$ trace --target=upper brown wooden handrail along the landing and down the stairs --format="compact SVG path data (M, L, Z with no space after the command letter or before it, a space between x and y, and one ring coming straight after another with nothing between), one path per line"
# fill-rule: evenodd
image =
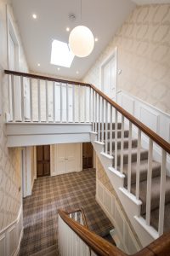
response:
M105 99L106 102L109 102L112 107L116 108L116 110L119 113L122 113L122 115L125 118L127 118L130 122L132 122L133 125L136 125L141 131L144 132L145 135L150 137L155 143L157 143L168 154L170 154L170 143L168 143L162 137L157 135L156 132L152 131L148 126L146 126L142 122L140 122L139 119L136 119L135 117L133 117L133 115L131 113L128 113L124 108L119 106L116 102L113 102L110 97L106 96L101 90L99 90L93 84L85 84L85 83L82 83L82 82L75 82L75 81L69 81L69 80L64 80L64 79L54 79L54 78L35 75L35 74L31 74L31 73L20 73L20 72L10 71L10 70L4 70L4 73L13 74L13 75L16 75L16 76L23 76L23 77L31 78L31 79L42 79L42 80L54 81L54 82L58 82L58 83L89 86L90 88L95 90L99 94L99 96L102 96Z

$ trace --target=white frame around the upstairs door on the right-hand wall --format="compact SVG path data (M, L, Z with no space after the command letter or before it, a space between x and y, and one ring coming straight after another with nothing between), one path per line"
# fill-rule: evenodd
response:
M116 101L117 101L117 47L111 52L111 54L105 59L105 61L102 62L102 64L99 67L99 86L100 86L100 90L104 91L104 83L103 83L103 67L109 62L111 61L111 59L115 57L116 58Z

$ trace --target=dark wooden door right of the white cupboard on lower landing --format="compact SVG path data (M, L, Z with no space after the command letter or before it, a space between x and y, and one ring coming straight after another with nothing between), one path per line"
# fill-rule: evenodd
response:
M82 143L82 169L93 167L93 151L92 143Z

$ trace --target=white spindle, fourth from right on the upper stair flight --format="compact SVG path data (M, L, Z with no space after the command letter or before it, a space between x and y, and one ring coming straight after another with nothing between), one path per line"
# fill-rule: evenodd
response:
M128 170L127 170L127 190L131 191L131 166L132 166L132 123L129 121L128 135Z

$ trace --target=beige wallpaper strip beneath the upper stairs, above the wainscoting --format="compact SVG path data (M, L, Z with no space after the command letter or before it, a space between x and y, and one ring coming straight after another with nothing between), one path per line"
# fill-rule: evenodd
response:
M111 194L115 197L116 203L119 205L119 207L122 210L122 213L124 215L124 218L126 218L127 224L131 228L133 235L136 237L136 239L139 241L138 236L136 235L135 230L133 229L132 224L130 223L129 219L127 218L127 214L124 211L121 202L119 201L119 198L116 195L116 191L113 189L113 186L111 185L111 182L109 180L109 177L107 176L104 167L101 165L101 162L99 161L99 158L96 157L96 178L99 180L100 183L102 183L106 189L108 189ZM140 244L140 241L139 241Z

